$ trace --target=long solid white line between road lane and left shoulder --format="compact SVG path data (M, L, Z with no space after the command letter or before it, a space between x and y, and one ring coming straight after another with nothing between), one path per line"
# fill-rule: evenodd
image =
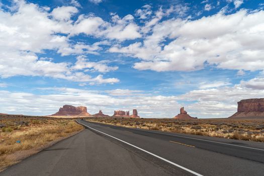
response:
M158 155L156 155L156 154L154 154L154 153L151 153L151 152L149 152L149 151L147 151L147 150L144 150L144 149L142 149L142 148L140 148L140 147L137 147L137 146L135 146L135 145L133 145L133 144L130 144L130 143L126 142L126 141L123 141L123 140L121 140L121 139L118 139L118 138L116 138L116 137L114 137L114 136L111 136L111 135L109 135L109 134L106 134L106 133L104 133L104 132L102 132L102 131L96 130L96 129L94 129L94 128L90 127L90 126L84 125L84 124L82 124L82 123L80 123L80 122L78 122L78 121L76 121L76 122L79 123L79 124L81 124L81 125L83 125L83 126L85 126L85 127L87 127L87 128L90 128L90 129L92 129L92 130L95 130L95 131L97 131L97 132L100 132L100 133L102 133L102 134L105 134L105 135L107 135L107 136L109 136L109 137L112 137L112 138L114 138L114 139L116 139L116 140L119 140L119 141L121 141L121 142L124 142L124 143L126 143L126 144L128 144L128 145L130 145L130 146L132 146L132 147L135 147L135 148L137 148L137 149L139 149L139 150L141 150L141 151L144 151L144 152L146 152L146 153L148 153L148 154L150 154L150 155L152 155L152 156L155 156L155 157L157 157L157 158L159 158L159 159L161 159L161 160L163 160L163 161L166 161L166 162L168 162L168 163L170 163L170 164L172 164L172 165L174 165L174 166L180 167L180 168L182 168L182 169L184 169L184 170L186 170L186 171L188 171L188 172L190 172L190 173L193 173L193 174L195 174L195 175L197 175L197 176L203 176L203 175L200 174L200 173L197 173L197 172L195 172L195 171L193 171L193 170L190 170L190 169L188 169L188 168L186 168L186 167L184 167L184 166L181 166L181 165L179 165L179 164L176 164L176 163L174 163L174 162L171 162L171 161L169 161L169 160L167 160L167 159L165 159L165 158L162 158L162 157L160 157L160 156L158 156Z

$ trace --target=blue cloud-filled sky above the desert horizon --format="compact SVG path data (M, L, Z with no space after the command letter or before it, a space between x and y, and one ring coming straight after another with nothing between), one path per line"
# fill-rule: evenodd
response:
M224 118L264 97L264 1L0 0L0 113Z

